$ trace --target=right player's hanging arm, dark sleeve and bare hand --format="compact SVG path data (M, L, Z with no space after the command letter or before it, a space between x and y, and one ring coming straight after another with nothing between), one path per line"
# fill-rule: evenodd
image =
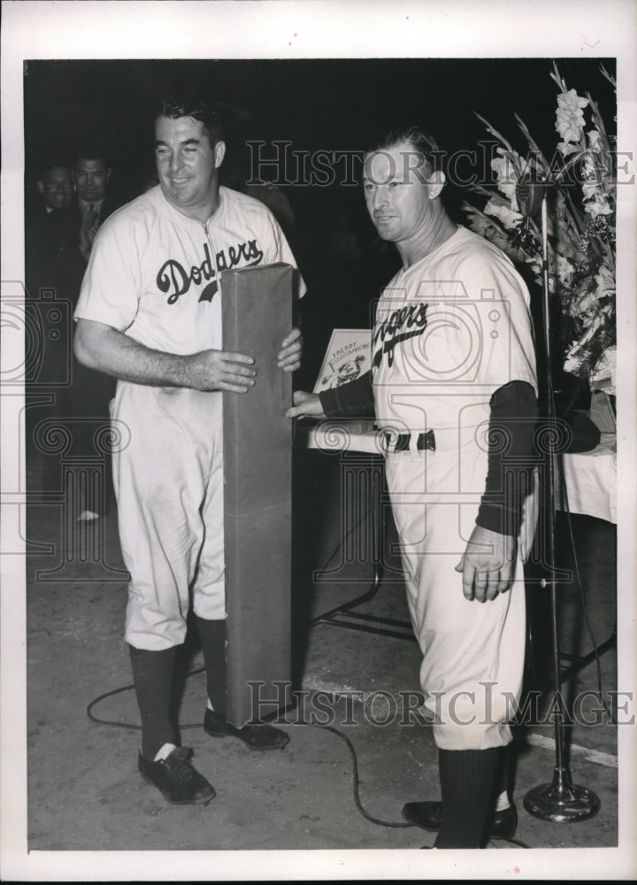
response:
M465 598L478 602L510 589L538 414L535 391L527 381L510 381L497 389L490 407L485 492L456 566Z

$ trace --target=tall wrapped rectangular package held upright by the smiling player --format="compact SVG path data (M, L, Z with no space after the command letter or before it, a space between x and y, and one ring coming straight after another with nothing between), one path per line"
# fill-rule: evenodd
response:
M242 727L289 699L292 373L276 355L293 323L293 269L226 271L221 290L223 348L257 369L248 393L223 395L226 716Z

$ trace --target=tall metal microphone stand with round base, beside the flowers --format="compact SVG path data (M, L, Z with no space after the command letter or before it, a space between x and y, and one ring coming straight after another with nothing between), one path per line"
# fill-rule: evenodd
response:
M553 673L556 691L555 745L556 764L553 780L530 789L524 798L524 806L529 814L541 820L554 820L559 823L575 822L592 818L600 808L599 797L586 787L573 784L571 772L564 762L564 736L562 714L564 700L562 698L562 680L557 647L557 596L556 596L556 519L555 519L555 462L556 456L551 451L550 436L557 439L556 410L553 396L553 380L551 376L551 342L550 342L550 311L549 311L549 246L547 235L547 196L546 182L521 179L517 189L520 212L528 218L537 211L538 197L541 195L541 237L542 237L542 327L545 345L545 390L546 419L549 427L547 435L546 469L547 481L544 488L548 501L546 503L547 519L547 557L546 567L549 577L542 578L541 586L550 588L551 632L553 638Z

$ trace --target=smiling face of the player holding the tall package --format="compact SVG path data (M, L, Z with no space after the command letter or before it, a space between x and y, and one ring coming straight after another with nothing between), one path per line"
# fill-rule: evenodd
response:
M188 218L205 221L219 204L219 166L224 142L214 147L203 123L191 117L157 117L155 159L169 203Z

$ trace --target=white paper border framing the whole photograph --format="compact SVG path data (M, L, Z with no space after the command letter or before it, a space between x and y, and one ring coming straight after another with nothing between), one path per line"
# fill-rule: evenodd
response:
M2 4L2 287L24 267L22 63L34 58L603 58L618 60L618 150L633 150L637 8L631 0L364 2L238 0ZM634 169L634 164L633 164ZM633 687L637 577L635 482L635 188L618 189L618 686ZM3 327L2 368L19 335ZM2 597L0 875L4 881L634 878L635 728L618 728L617 849L438 852L27 850L25 496L20 391L0 391ZM24 478L23 478L24 479ZM310 856L311 857L308 857Z

